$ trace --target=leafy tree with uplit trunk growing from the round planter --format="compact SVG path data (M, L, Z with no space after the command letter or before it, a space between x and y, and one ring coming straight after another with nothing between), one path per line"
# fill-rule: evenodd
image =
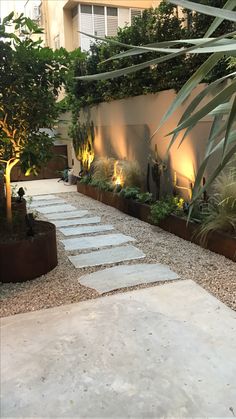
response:
M40 33L42 29L23 14L14 18L11 13L0 25L0 169L8 223L12 222L11 170L20 163L26 174L36 173L51 157L53 139L42 128L55 124L56 99L73 58L63 49L53 51L42 47L40 39L32 39Z

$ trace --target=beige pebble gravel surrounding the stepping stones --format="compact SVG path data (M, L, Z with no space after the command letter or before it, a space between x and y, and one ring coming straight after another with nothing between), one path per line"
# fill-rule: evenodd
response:
M88 209L90 216L101 216L102 224L114 225L114 233L120 232L134 237L137 240L134 245L141 249L146 257L125 262L125 264L166 264L179 274L181 279L196 281L229 307L236 310L236 264L231 260L202 249L158 227L153 227L77 192L57 194L57 197L66 199L69 204L78 209ZM46 219L43 216L39 218ZM107 233L109 234L109 232ZM75 303L100 296L94 289L81 285L79 277L117 264L75 269L68 260L67 254L75 255L78 252L66 253L59 241L65 236L57 232L57 238L59 263L53 271L32 281L0 285L1 317ZM158 282L155 285L164 282ZM153 285L143 284L132 288L123 288L103 295Z

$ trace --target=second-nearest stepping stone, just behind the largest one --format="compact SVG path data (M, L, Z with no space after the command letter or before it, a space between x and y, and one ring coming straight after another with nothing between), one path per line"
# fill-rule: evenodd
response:
M145 254L134 246L119 246L112 249L97 250L77 256L69 256L75 268L88 268L91 266L109 265L125 260L142 259Z

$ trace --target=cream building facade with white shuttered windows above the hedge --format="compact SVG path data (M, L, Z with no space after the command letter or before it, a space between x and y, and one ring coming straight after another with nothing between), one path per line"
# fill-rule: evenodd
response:
M46 45L88 51L91 38L78 31L114 36L119 27L130 25L145 8L158 4L158 0L42 0L41 24Z

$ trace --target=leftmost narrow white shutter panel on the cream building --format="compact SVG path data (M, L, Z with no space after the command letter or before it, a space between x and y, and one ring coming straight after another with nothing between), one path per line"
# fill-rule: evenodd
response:
M81 5L80 6L80 28L82 32L93 35L93 15L92 15L92 6ZM92 39L86 35L80 34L80 47L83 51L88 51L90 49L90 43Z

